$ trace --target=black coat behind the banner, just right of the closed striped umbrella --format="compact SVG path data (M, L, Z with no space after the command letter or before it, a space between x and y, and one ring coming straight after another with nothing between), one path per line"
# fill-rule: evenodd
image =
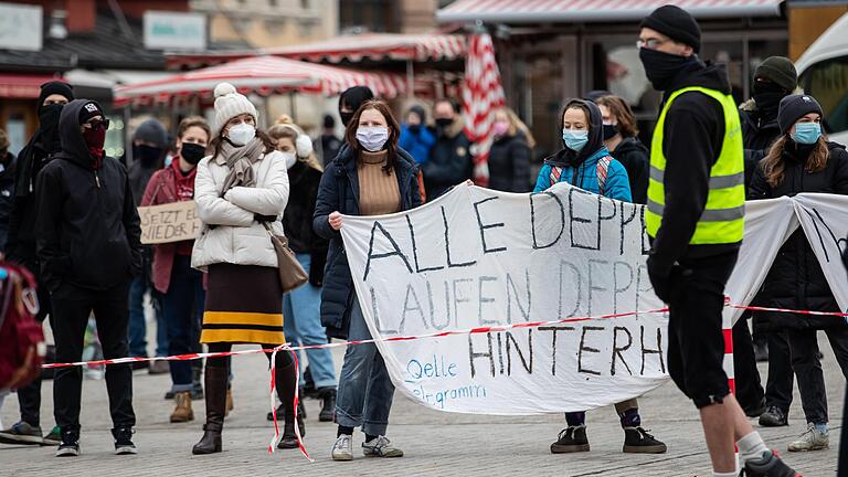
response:
M504 136L491 145L489 189L504 192L530 191L530 146L523 134Z

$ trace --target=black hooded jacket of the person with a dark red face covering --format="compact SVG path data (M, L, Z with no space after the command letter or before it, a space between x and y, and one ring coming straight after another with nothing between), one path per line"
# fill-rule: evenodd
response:
M94 169L80 130L87 103L76 99L62 109L62 151L38 177L38 258L52 292L63 284L126 286L141 266L141 229L127 171L110 157Z

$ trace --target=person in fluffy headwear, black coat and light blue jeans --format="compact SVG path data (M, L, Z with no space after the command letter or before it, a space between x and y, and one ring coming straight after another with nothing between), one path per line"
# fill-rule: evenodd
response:
M321 286L329 243L312 230L312 215L324 168L315 158L311 141L303 129L292 123L288 116L282 119L268 129L268 136L276 142L278 151L289 155L286 167L292 191L286 213L283 214L283 229L288 245L309 274L309 284L283 297L283 316L286 317L283 327L286 339L295 346L325 344L327 330L321 326ZM299 359L301 352L297 353ZM336 412L336 368L332 353L328 349L318 348L306 350L306 356L309 357L308 371L314 395L321 400L318 420L330 422ZM300 368L301 386L306 382L306 371ZM298 416L306 417L299 410L298 413Z

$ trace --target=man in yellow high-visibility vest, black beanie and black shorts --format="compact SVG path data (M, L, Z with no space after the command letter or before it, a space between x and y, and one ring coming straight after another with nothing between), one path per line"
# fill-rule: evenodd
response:
M713 476L794 471L770 451L730 393L722 367L724 286L744 231L744 158L727 72L698 57L698 22L675 6L646 17L639 59L664 92L650 147L645 226L654 292L669 307L668 370L700 412Z

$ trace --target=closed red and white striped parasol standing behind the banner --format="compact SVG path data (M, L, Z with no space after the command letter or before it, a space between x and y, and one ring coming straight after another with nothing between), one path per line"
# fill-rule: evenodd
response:
M506 104L500 72L495 60L495 46L488 33L473 34L468 42L463 86L463 115L465 134L475 144L474 181L479 186L489 182L489 148L494 134L491 124L495 109Z

